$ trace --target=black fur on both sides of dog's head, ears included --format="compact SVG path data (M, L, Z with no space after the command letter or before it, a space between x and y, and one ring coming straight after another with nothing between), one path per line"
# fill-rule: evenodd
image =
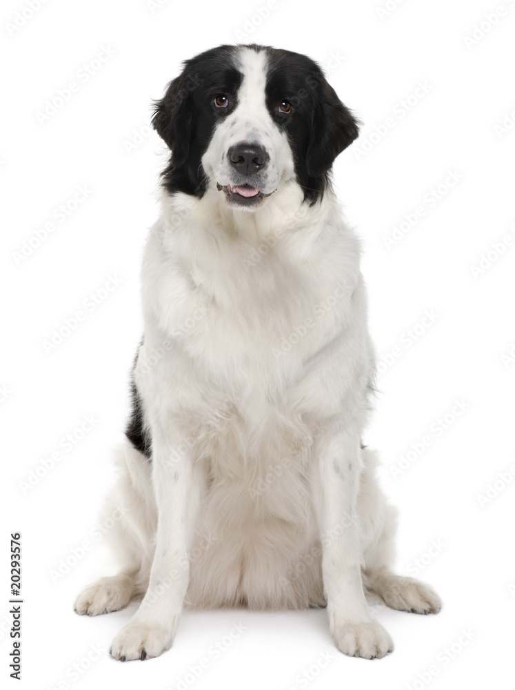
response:
M358 136L358 121L327 83L321 68L309 57L266 46L219 46L185 61L179 77L168 84L156 102L152 124L172 155L163 171L163 186L202 197L207 180L201 159L221 117L238 103L243 80L239 50L250 48L267 55L267 108L276 126L284 130L294 157L298 183L312 203L321 198L333 161ZM229 97L227 108L212 108L216 95ZM279 103L289 101L292 112L283 115Z

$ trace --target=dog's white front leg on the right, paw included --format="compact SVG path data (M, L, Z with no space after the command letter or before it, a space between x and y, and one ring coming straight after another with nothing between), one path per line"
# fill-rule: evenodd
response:
M393 644L372 618L363 591L356 515L361 448L359 433L350 426L328 433L319 444L323 584L336 647L350 656L373 659L392 651Z

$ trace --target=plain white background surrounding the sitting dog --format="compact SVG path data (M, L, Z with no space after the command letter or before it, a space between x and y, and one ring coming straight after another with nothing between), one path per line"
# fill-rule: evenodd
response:
M23 1L3 3L2 683L16 684L8 678L7 552L10 531L20 531L21 687L505 686L515 609L514 4L277 0L261 21L265 0L48 0L32 17ZM418 616L376 607L396 645L381 661L336 652L325 611L214 611L185 613L161 658L120 664L108 649L134 605L87 618L72 602L110 573L91 531L112 482L141 335L141 247L163 167L161 141L146 125L150 103L181 60L254 41L319 61L363 119L334 180L363 238L370 328L383 362L365 442L379 449L381 481L400 509L398 571L418 570L444 608ZM111 55L97 63L99 54ZM59 101L72 81L77 89ZM62 107L38 116L54 99ZM77 204L79 186L89 191ZM70 211L63 222L54 215L61 204ZM410 223L419 206L424 215ZM49 221L53 232L20 258ZM387 248L403 221L406 232ZM110 275L121 282L104 293ZM77 311L83 322L46 352L44 341ZM426 311L432 319L421 325ZM86 415L97 421L83 434ZM76 443L65 452L69 433ZM46 471L41 463L56 451ZM245 627L234 639L233 622ZM223 652L213 653L223 638Z

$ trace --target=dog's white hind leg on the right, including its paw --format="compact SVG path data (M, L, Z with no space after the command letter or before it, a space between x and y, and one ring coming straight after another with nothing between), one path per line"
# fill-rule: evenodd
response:
M433 589L414 578L396 575L394 536L396 509L385 500L375 477L375 455L363 449L358 512L363 530L363 585L387 607L411 613L438 613L442 603Z

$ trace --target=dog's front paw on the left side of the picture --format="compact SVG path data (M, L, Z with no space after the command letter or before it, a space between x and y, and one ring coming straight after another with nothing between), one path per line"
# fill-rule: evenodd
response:
M112 641L109 653L118 661L152 659L172 647L172 629L130 621Z

